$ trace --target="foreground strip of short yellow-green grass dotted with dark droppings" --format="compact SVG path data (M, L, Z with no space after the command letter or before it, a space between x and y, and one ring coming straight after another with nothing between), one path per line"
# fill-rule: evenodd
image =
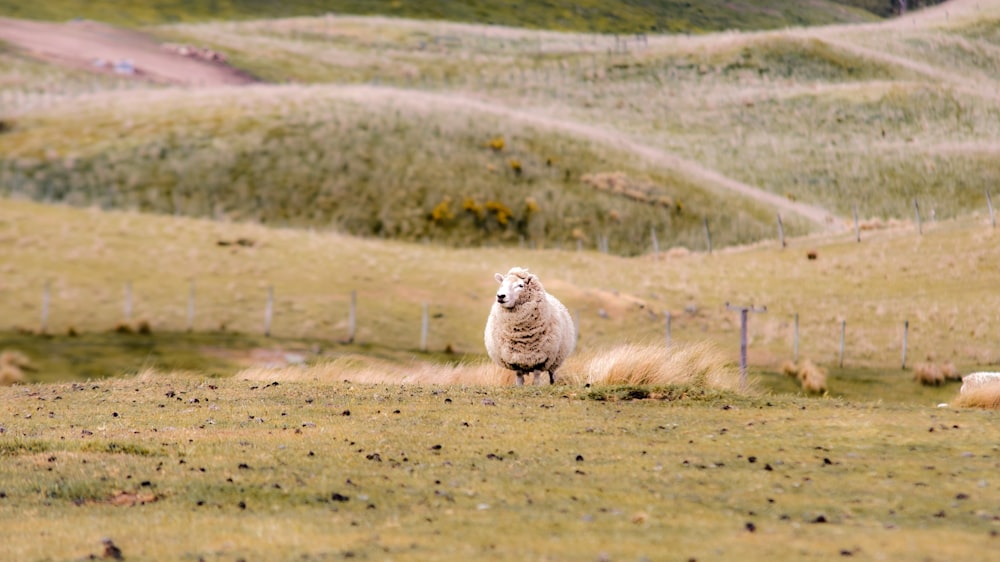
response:
M978 411L182 375L0 398L18 559L100 557L104 538L225 560L973 559L996 541L1000 428Z

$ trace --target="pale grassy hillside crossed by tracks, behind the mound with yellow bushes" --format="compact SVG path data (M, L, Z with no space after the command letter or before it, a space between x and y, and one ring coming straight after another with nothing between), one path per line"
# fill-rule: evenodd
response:
M963 5L970 19L955 17ZM950 217L981 208L997 179L1000 120L986 86L998 75L987 54L996 43L983 30L998 14L987 10L949 4L917 25L648 45L385 20L164 31L232 53L268 80L458 91L625 131L842 216L857 205L862 216L907 217L919 198Z

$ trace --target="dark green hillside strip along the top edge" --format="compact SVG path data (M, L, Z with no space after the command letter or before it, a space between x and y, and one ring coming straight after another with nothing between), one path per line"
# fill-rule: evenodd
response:
M182 21L266 19L317 16L325 13L388 15L534 29L598 33L703 33L725 29L773 29L873 21L871 12L852 7L857 1L822 0L790 6L775 0L752 0L739 6L721 0L698 3L678 0L641 2L396 2L390 0L222 0L192 2L108 2L56 0L44 3L0 1L0 15L66 20L84 17L120 25L149 25Z

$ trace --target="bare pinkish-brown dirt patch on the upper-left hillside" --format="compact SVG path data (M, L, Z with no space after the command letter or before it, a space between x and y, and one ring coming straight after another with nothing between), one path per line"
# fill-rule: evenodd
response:
M50 23L0 18L0 41L56 64L163 84L221 86L254 82L248 74L227 64L168 51L148 35L94 21Z

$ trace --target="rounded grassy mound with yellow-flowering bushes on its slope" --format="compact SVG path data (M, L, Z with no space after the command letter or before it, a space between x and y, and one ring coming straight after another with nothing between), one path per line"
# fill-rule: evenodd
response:
M665 247L703 245L705 219L719 245L774 231L766 207L720 204L677 170L444 96L266 87L113 103L18 118L0 135L2 191L458 246L607 236L634 254L652 230Z

